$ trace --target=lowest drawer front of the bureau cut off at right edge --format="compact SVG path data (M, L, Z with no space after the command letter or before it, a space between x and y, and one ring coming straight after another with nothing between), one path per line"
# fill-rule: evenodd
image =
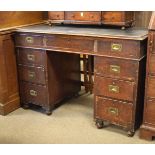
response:
M155 100L147 100L144 121L155 125Z

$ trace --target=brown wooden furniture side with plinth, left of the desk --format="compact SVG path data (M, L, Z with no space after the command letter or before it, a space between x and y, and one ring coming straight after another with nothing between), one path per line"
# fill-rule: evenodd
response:
M0 114L20 107L16 56L12 33L0 35Z

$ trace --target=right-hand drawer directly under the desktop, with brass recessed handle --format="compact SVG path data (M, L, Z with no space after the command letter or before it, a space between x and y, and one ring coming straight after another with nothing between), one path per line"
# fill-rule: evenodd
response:
M140 58L140 42L121 39L102 39L97 42L101 55L123 58Z

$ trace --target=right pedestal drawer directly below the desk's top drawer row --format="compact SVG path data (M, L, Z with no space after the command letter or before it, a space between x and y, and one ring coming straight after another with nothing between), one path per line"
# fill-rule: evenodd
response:
M95 57L95 74L126 80L136 80L138 62L106 57Z

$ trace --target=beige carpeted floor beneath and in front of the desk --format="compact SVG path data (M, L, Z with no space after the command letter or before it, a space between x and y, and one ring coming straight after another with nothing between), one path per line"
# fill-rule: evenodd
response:
M73 98L51 116L22 108L0 116L0 143L155 143L130 138L116 127L97 129L93 121L93 95Z

